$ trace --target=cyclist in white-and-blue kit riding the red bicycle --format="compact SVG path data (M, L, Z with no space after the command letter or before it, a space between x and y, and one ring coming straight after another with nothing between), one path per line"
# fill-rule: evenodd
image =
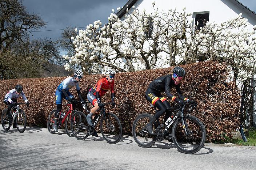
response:
M79 82L83 78L83 72L81 70L75 70L74 75L72 77L65 78L61 82L61 84L57 87L56 93L55 93L55 99L56 99L56 105L57 109L54 115L54 125L53 129L58 132L58 120L59 120L59 115L60 111L62 109L62 99L65 98L67 101L71 102L73 104L73 107L76 106L75 102L72 102L75 100L75 97L69 92L69 89L76 86L76 91L77 94L80 98L80 101L83 102L82 94L80 92L80 86Z

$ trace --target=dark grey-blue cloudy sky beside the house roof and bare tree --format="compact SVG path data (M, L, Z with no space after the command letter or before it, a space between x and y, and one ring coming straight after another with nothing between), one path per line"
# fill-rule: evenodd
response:
M150 1L150 0L147 0ZM151 0L153 1L153 0ZM150 2L151 2L150 1ZM245 6L256 11L256 0L240 0ZM24 0L29 13L37 13L47 22L41 30L64 29L67 26L83 27L100 20L107 23L112 8L122 7L128 0ZM34 38L60 37L59 31L34 32Z

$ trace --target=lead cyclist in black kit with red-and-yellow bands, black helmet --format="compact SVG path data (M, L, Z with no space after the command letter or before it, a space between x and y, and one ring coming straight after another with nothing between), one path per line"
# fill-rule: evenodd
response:
M182 67L175 67L173 69L173 73L171 75L161 76L153 80L145 93L146 99L152 103L152 105L156 106L159 111L153 116L152 120L146 125L148 132L153 135L153 123L164 114L164 122L171 116L171 111L166 110L171 107L166 98L161 95L161 92L165 92L168 98L172 99L175 102L178 102L179 105L183 106L185 101L189 103L194 103L195 101L191 101L188 98L184 97L180 90L180 81L185 77L186 72ZM170 93L170 89L175 87L177 91L177 98Z

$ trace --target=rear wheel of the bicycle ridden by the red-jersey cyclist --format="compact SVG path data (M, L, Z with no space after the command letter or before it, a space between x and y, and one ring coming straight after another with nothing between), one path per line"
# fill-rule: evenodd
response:
M71 131L78 140L85 140L88 136L88 123L86 115L83 112L77 111L71 117Z

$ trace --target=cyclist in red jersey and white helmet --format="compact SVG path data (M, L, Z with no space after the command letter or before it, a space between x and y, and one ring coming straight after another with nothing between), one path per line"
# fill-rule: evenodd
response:
M115 91L114 91L115 75L116 75L116 72L114 70L112 70L112 69L106 70L105 77L101 78L97 82L97 84L89 90L89 93L87 94L87 98L88 98L89 102L91 102L92 105L94 106L92 108L92 110L90 111L90 114L86 117L87 122L90 126L93 126L92 115L95 114L97 110L99 110L103 107L103 104L101 103L101 97L105 93L107 93L108 90L111 90L111 105L115 106L115 104L116 104L114 101L114 99L115 99ZM92 136L97 137L96 131L94 131Z

